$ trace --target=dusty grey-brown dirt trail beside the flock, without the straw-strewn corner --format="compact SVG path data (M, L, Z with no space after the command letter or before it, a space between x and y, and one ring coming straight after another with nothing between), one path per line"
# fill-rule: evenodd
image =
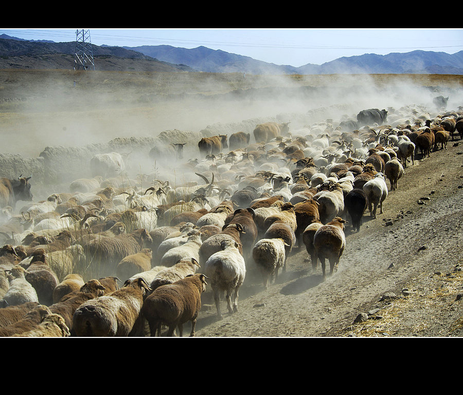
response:
M346 229L339 270L327 281L319 266L311 274L303 247L293 250L287 272L268 290L258 277L249 278L240 290L238 313L224 314L222 321L206 292L197 336L342 336L384 294L400 295L409 281L451 271L463 255L462 149L450 142L448 151L409 165L398 190L389 192L384 214L376 220L366 214L359 233ZM430 200L419 204L420 198Z

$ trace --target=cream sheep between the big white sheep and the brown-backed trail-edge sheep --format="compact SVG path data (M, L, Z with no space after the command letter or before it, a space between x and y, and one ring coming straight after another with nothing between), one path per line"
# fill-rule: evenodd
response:
M263 286L269 287L269 279L278 279L278 270L286 262L285 248L288 244L281 238L263 238L253 247L253 259L262 274Z

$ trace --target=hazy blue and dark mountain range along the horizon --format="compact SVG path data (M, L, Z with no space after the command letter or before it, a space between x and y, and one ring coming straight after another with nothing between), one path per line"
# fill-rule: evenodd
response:
M72 68L76 43L0 35L0 68ZM322 65L276 65L204 46L92 45L96 70L246 72L251 74L463 74L463 51L411 51L342 57ZM44 59L45 57L45 59Z

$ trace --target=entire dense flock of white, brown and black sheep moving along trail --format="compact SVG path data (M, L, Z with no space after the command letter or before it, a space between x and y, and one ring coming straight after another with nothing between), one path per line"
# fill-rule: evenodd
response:
M197 180L181 186L158 174L144 190L128 186L139 180L122 157L99 155L94 177L69 191L2 207L0 336L144 336L146 325L182 336L187 322L193 336L207 287L218 318L223 299L236 313L243 283L269 287L295 248L305 246L313 274L320 261L325 279L328 260L333 275L346 224L359 231L365 214L382 214L417 154L463 139L461 111L368 111L379 122L362 113L204 138L190 160L172 144Z

